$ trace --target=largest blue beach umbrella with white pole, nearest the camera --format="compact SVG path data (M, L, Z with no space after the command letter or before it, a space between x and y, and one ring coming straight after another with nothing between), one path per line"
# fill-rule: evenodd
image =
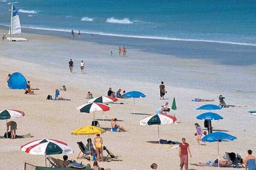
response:
M233 140L235 140L237 138L235 136L232 136L232 135L227 134L227 133L215 132L215 133L210 133L207 136L204 136L202 138L202 141L203 142L215 142L215 141L218 141L218 144L219 144L219 140L224 140L224 139L233 141ZM220 168L219 160L220 160L220 156L219 156L219 147L218 147L218 168Z

